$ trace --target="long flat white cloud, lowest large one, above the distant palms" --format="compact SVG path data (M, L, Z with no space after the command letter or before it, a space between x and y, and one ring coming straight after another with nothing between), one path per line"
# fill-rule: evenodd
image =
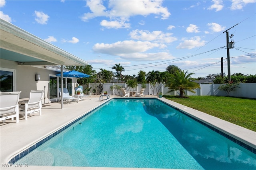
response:
M154 47L162 47L160 44L151 43L149 41L118 41L112 44L97 43L93 46L96 53L104 53L108 55L122 55L145 52Z

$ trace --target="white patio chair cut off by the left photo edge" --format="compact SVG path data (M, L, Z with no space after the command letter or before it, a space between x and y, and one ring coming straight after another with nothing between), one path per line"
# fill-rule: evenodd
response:
M16 117L19 123L19 98L20 92L0 92L0 121Z

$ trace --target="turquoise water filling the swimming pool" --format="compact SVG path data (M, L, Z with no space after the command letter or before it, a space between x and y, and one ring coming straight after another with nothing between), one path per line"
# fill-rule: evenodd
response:
M256 169L256 154L156 99L110 100L16 163Z

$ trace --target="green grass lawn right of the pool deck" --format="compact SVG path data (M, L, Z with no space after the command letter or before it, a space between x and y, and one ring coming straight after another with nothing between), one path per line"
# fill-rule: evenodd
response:
M256 99L224 96L163 96L184 106L256 131Z

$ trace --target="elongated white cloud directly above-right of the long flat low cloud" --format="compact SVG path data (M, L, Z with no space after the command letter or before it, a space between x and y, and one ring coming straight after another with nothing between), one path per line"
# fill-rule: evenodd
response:
M163 33L162 31L147 31L147 30L133 30L130 32L130 37L132 39L142 40L142 41L153 41L160 43L172 43L176 41L177 38L171 36L172 33Z

